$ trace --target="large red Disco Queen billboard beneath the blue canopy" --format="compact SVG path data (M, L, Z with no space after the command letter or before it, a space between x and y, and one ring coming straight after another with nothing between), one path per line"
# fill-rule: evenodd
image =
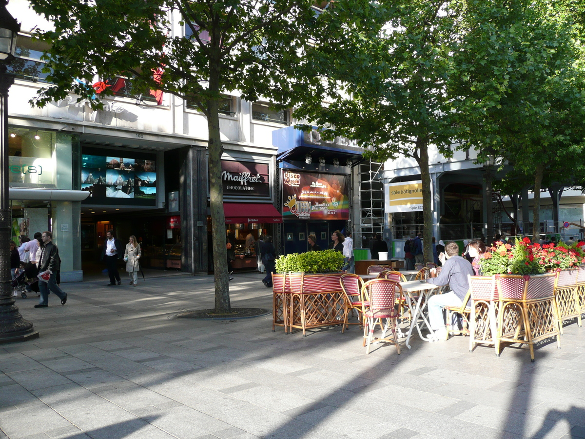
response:
M284 219L349 219L347 176L283 170Z

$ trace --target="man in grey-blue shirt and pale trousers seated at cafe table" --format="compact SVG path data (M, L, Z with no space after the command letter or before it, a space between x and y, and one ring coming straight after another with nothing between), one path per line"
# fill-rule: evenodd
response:
M446 253L446 256L445 256ZM435 331L436 337L439 340L444 340L445 332L445 316L443 315L443 307L445 306L461 306L463 299L469 290L469 280L467 275L473 276L473 266L469 260L462 258L459 255L459 246L454 241L449 241L445 245L445 253L441 253L439 259L443 264L443 269L437 277L429 277L426 280L436 286L443 286L449 284L451 291L445 294L435 294L429 299L429 323L431 329ZM435 270L435 269L432 269Z

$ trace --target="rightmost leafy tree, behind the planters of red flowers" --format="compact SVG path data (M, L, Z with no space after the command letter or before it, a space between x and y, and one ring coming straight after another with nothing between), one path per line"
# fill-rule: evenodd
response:
M580 26L562 2L468 5L462 50L454 56L459 69L451 76L456 115L480 162L497 155L514 166L504 185L525 186L522 175L532 178L532 235L538 240L543 181L581 181L585 169Z

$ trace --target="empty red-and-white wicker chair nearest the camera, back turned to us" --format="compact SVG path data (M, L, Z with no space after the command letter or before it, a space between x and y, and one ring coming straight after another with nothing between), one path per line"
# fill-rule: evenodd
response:
M390 279L372 279L362 286L364 337L367 335L366 354L370 353L371 345L378 342L394 344L396 351L400 354L396 323L398 311L394 309L397 291L402 295L400 283ZM386 319L386 325L383 328L382 336L374 338L376 321L379 319ZM390 330L390 334L386 337L388 330Z

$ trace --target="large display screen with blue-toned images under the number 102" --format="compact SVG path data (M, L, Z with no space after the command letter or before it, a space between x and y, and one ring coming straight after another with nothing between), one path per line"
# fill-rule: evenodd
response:
M81 190L85 204L156 205L154 155L123 153L103 155L104 150L84 148L81 156ZM101 152L95 154L94 152Z

